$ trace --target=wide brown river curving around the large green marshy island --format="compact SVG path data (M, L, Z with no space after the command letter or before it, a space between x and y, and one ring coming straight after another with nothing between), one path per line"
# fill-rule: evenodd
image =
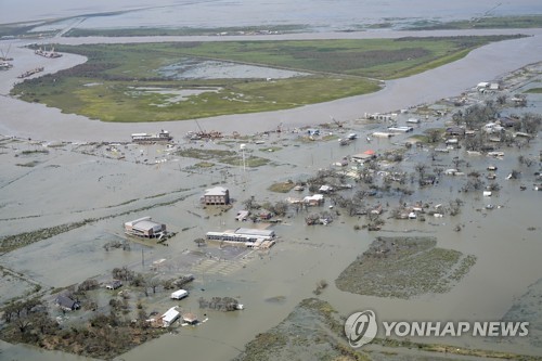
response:
M238 41L238 40L295 40L295 39L369 39L473 36L495 34L526 34L526 38L490 43L470 52L454 63L443 65L418 75L386 81L386 87L375 93L346 98L333 102L307 105L294 109L227 115L198 119L202 128L231 133L254 133L275 129L282 123L284 129L330 121L330 116L339 120L352 120L364 113L386 113L431 103L440 99L456 96L480 81L491 81L526 65L542 61L542 29L499 30L443 30L443 31L363 31L363 33L315 33L274 36L231 37L127 37L127 38L54 38L63 44L128 43L165 41ZM43 42L43 40L40 40ZM24 69L44 66L47 73L55 73L85 62L78 55L66 54L50 60L36 56L23 48L28 43L13 41L14 67L0 73L0 134L31 138L46 141L128 141L133 132L155 132L167 129L177 139L190 130L197 130L194 121L115 124L91 120L42 104L26 103L9 95L16 76ZM39 75L38 75L39 76Z

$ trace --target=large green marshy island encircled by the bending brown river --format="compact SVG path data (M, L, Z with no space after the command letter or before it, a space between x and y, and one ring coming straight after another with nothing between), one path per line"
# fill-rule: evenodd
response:
M12 94L103 121L167 121L292 108L370 93L511 37L94 44L56 50L86 64L17 85ZM158 70L208 60L307 73L288 79L173 79ZM196 64L197 66L197 64ZM179 101L182 91L198 91Z

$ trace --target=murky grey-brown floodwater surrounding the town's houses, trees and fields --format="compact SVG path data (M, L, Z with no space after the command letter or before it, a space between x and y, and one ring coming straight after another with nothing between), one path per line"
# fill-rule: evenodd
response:
M534 104L535 108L529 111L542 109L542 100L533 98L531 104ZM435 118L429 119L417 128L415 133L435 127L436 121ZM1 228L5 234L82 218L107 216L112 218L12 252L0 260L8 268L24 272L51 287L77 283L89 276L104 274L107 270L119 266L129 266L140 271L143 269L142 252L145 265L165 258L175 268L178 266L176 255L186 249L197 249L193 243L194 238L201 237L209 230L238 227L233 216L234 210L241 207L240 202L250 195L255 195L258 201L270 202L285 197L266 191L271 182L269 172L280 175L274 176L272 181L297 180L349 154L367 149L380 153L386 149L397 147L395 144L401 143L406 137L398 136L391 140L374 139L371 144L366 144L363 139L374 129L369 130L358 121L348 123L346 126L360 134L360 140L348 146L339 146L336 140L301 143L295 140L297 134L286 133L280 137L271 136L266 144L249 144L248 152L268 157L276 165L249 170L246 176L242 173L241 163L238 168L230 169L225 184L237 199L237 204L223 216L207 214L198 205L203 189L220 181L222 175L218 170L193 170L190 166L197 160L175 156L169 157L166 163L153 165L154 159L164 157L160 146L121 147L128 160L133 157L151 159L147 166L103 158L100 156L106 154L103 150L101 151L103 153L96 153L98 156L69 152L82 145L73 145L74 149L72 145L51 147L48 155L34 157L41 162L38 166L26 169L14 164L24 163L33 157L23 160L22 156L15 158L13 154L21 150L39 149L39 145L27 142L8 143L14 149L8 150L8 153L2 155L5 171L2 175L3 207L0 224L5 225ZM340 134L349 131L345 129ZM267 147L272 143L283 149L267 152ZM188 141L180 141L179 144L181 147L194 145L203 149L217 147L211 143L189 144ZM537 142L528 154L535 155L540 151L541 144ZM357 255L366 249L376 233L354 231L353 225L362 224L363 219L348 217L340 217L328 227L306 227L302 221L305 215L300 214L286 219L283 224L275 225L274 230L281 236L281 241L270 252L247 254L247 260L242 261L242 267L233 269L219 267L217 272L214 269L220 266L218 261L210 268L196 266L192 269L196 282L191 288L191 296L183 300L181 306L201 317L207 313L208 322L195 328L184 327L177 334L165 335L124 354L119 360L139 361L156 356L169 358L181 351L191 359L230 359L236 356L244 344L256 334L279 323L298 301L311 297L320 280L330 283L321 297L331 301L343 314L371 308L387 320L499 320L513 301L526 292L527 286L540 278L542 271L538 260L541 247L538 229L539 194L530 188L521 192L518 182L506 183L503 180L505 175L517 166L516 159L519 154L517 151L506 153L502 160L487 157L467 159L473 169L485 169L488 164L498 164L499 182L503 185L503 190L499 192L496 198L488 201L479 194L457 194L463 181L443 178L440 186L418 191L409 199L430 199L435 204L446 204L450 198L461 197L466 205L460 216L453 219L428 219L426 222L388 220L385 230L378 232L385 235L433 235L438 238L440 247L477 256L478 261L470 273L450 293L424 295L412 300L397 300L339 292L333 281ZM439 156L438 163L450 165L456 155L464 156L462 151L452 151ZM410 164L416 164L427 162L428 153L414 149L409 151L406 156ZM243 183L242 179L246 179L246 183ZM7 184L8 180L15 181ZM26 190L24 193L17 192L23 189ZM80 192L80 189L85 189L85 192ZM262 194L267 196L261 198ZM172 205L152 208L144 212L115 216L181 196L186 198ZM69 202L61 202L61 197ZM389 203L393 206L398 199L377 198L369 202ZM492 211L477 210L483 208L488 202L503 207ZM210 215L210 218L205 219L194 214ZM103 244L116 238L121 232L122 222L144 215L150 215L179 232L169 242L169 247L149 248L133 244L130 252L104 252ZM460 233L453 231L456 224L464 225ZM527 231L529 227L537 227L537 230ZM185 228L190 229L182 231ZM54 263L48 261L53 258L56 259ZM227 313L198 309L197 298L214 296L238 297L246 309ZM273 297L280 299L270 301L269 299ZM520 353L535 354L541 351L532 346L522 345L520 340L512 345L486 344L482 339L449 341L462 346L507 349ZM25 360L33 360L33 357L34 360L57 359L57 353L30 352L28 357L27 353L28 350L22 346L10 346L4 349L4 354L14 358L24 357ZM66 360L77 360L70 356L63 357Z

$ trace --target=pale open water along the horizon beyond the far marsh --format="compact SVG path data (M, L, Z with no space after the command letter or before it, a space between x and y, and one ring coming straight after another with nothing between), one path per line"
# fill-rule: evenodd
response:
M298 25L324 31L360 29L382 23L401 27L414 22L525 15L541 11L540 3L534 0L448 3L415 0L408 4L400 0L98 0L91 3L77 0L69 5L63 0L51 0L47 4L38 0L2 0L0 10L0 24L79 16L76 23L82 28ZM114 11L120 13L106 13ZM106 14L100 16L100 13ZM50 28L54 28L54 24L37 28L37 31Z

